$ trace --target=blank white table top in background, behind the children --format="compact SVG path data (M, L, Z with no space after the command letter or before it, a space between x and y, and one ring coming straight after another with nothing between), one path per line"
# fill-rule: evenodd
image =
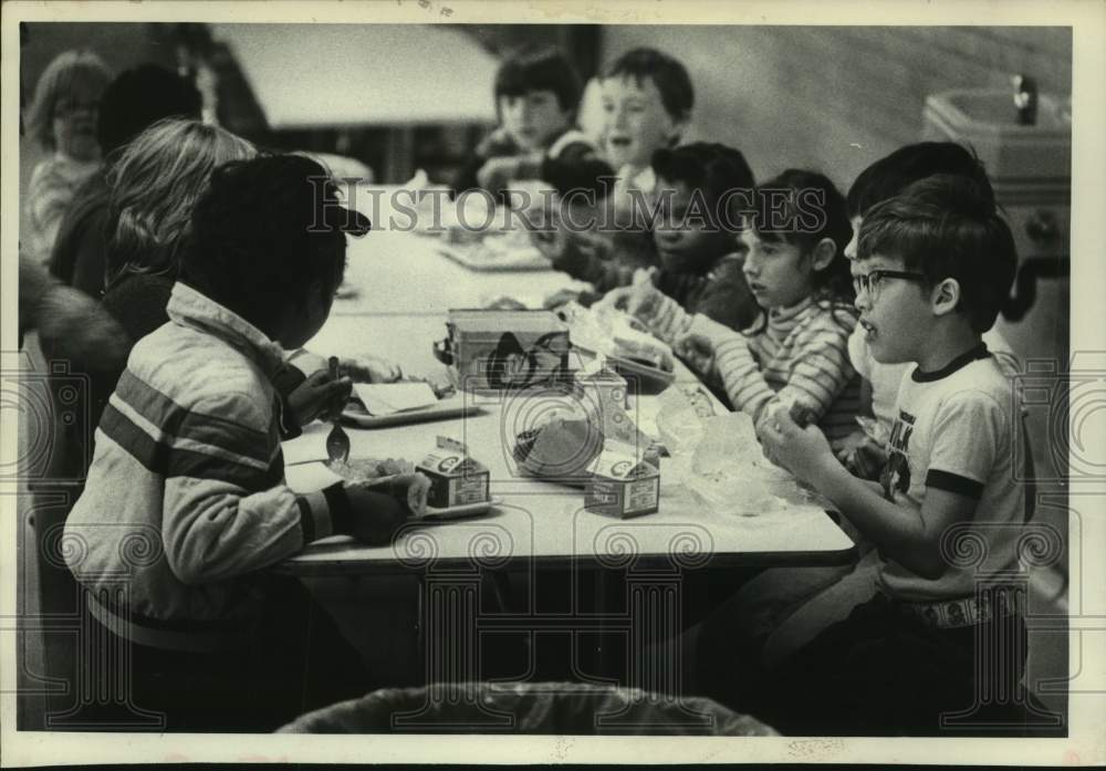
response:
M457 29L212 24L212 35L233 52L272 128L495 119L499 63Z

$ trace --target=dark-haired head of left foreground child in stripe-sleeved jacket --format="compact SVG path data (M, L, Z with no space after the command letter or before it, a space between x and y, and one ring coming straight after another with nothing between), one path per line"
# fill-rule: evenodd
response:
M265 334L290 303L320 283L333 293L345 271L345 233L368 219L338 204L317 162L298 155L236 160L211 175L192 212L181 280Z

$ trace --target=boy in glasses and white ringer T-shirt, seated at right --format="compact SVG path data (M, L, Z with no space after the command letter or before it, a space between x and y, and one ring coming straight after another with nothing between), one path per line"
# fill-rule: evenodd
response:
M878 594L773 675L758 715L782 732L933 734L973 706L975 726L1018 717L1023 597L1001 579L981 583L1019 572L1023 533L1019 417L981 336L1015 264L1010 229L964 177L922 179L865 215L852 265L859 324L876 361L912 363L890 460L878 485L857 479L786 411L762 440L875 543ZM963 539L979 560L950 559ZM1011 715L980 704L980 674Z

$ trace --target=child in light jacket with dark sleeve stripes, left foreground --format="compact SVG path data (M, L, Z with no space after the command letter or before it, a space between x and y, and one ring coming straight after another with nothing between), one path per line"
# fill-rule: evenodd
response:
M215 173L170 321L134 346L65 525L88 623L128 642L133 704L168 730L271 730L366 689L325 613L262 572L334 533L387 543L409 513L355 483L284 483L271 378L326 321L346 233L368 229L325 177L298 156Z

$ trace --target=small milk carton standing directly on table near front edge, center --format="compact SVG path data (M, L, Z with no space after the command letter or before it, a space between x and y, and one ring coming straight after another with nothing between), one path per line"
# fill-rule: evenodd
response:
M657 511L660 471L641 460L633 447L607 447L587 482L584 508L597 514L628 519Z

